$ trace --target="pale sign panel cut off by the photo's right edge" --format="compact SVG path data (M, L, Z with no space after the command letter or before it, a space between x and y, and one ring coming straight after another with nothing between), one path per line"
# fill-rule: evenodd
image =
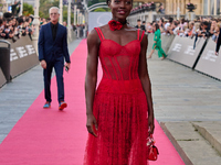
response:
M215 42L210 38L196 66L196 70L221 79L221 51L217 56L215 46Z

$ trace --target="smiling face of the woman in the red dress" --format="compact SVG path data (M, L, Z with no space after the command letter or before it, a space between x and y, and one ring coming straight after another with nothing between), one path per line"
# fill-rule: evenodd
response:
M113 19L125 20L130 13L133 3L131 0L110 0L109 8Z

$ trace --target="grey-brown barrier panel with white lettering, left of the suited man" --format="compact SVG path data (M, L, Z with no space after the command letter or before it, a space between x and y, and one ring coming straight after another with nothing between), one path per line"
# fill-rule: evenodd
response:
M36 52L29 36L11 43L11 77L15 77L39 64Z

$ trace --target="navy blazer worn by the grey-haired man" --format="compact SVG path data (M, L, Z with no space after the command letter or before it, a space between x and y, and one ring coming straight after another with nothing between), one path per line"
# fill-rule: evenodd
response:
M53 41L51 23L42 25L39 35L39 61L44 59L50 63L54 59L65 58L65 62L70 63L66 35L66 28L59 24L56 37Z

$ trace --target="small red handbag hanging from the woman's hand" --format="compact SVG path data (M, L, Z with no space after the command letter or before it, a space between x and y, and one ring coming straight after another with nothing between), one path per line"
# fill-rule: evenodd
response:
M158 148L155 146L152 134L150 134L150 136L147 139L147 160L157 161L158 155Z

